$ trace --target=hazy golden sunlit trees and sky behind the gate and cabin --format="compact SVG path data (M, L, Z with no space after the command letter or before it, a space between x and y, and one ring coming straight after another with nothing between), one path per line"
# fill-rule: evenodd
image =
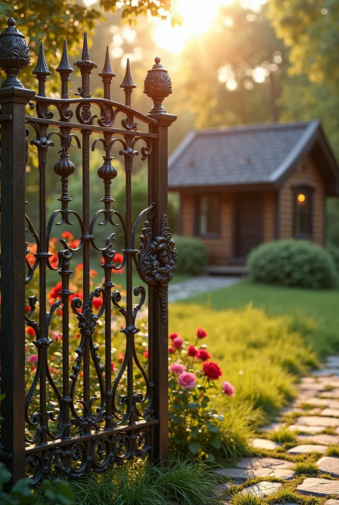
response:
M166 108L178 114L178 121L169 131L170 151L193 128L320 119L339 156L339 0L50 0L48 6L44 0L12 0L0 4L3 26L9 15L17 19L27 37L33 64L39 42L44 42L52 72L47 91L56 96L60 92L59 75L53 70L59 65L63 38L68 40L73 63L81 55L83 31L94 35L89 37L90 56L98 65L92 73L93 95L102 93L97 74L108 45L112 69L117 74L112 99L123 102L119 85L129 58L138 86L132 96L133 107L144 113L151 103L143 94L143 80L159 54L174 88L166 98ZM26 69L22 80L27 87L36 88L31 69ZM79 83L75 69L70 95ZM51 209L57 197L52 170L56 150L51 151L51 175L47 178ZM74 187L78 193L81 151L73 149L71 159L79 170ZM91 170L95 172L99 164L101 157L96 152ZM145 190L142 166L136 159L135 172L140 172L137 181ZM28 170L34 213L38 174L34 166ZM113 192L118 194L121 188L117 181ZM91 188L94 207L101 194L100 184L97 181ZM74 204L78 205L76 201ZM334 231L339 229L335 224L339 222L339 205L329 201L328 206L328 236L339 245L339 232ZM173 197L174 228L176 209L178 203Z

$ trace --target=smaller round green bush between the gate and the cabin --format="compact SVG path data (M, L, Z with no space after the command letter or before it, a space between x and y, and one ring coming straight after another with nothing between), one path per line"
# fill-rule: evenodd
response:
M194 237L175 235L173 238L178 249L176 273L185 275L201 274L208 258L206 245Z

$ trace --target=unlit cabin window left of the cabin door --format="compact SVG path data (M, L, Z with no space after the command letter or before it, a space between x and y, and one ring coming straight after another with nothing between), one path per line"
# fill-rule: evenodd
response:
M201 195L197 198L196 235L215 238L219 235L219 197Z

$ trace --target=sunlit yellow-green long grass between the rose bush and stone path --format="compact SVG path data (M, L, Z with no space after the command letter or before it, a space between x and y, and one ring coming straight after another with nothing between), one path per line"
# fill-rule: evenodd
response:
M268 317L248 306L214 311L197 305L171 305L170 331L192 341L197 326L207 331L212 360L219 363L222 380L236 388L233 398L216 395L215 405L225 416L220 423L224 455L238 458L248 450L248 438L258 424L267 423L296 395L298 376L317 359L288 317ZM221 381L216 382L221 389Z

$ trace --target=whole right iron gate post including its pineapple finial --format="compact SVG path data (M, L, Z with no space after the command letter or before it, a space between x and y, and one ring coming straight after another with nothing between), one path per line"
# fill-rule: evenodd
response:
M164 220L167 221L168 127L177 119L177 116L167 114L162 106L163 99L172 93L172 82L160 64L160 58L155 58L155 65L148 71L144 93L154 104L148 116L158 121L158 125L149 125L149 132L157 135L148 171L149 205L155 204L151 221L154 238L161 236ZM167 305L167 285L168 282L165 300L161 299L162 284L148 290L149 352L154 371L154 384L150 386L154 389L154 415L159 419L159 424L154 426L151 452L151 460L155 463L168 460L168 321L163 307L164 303Z

